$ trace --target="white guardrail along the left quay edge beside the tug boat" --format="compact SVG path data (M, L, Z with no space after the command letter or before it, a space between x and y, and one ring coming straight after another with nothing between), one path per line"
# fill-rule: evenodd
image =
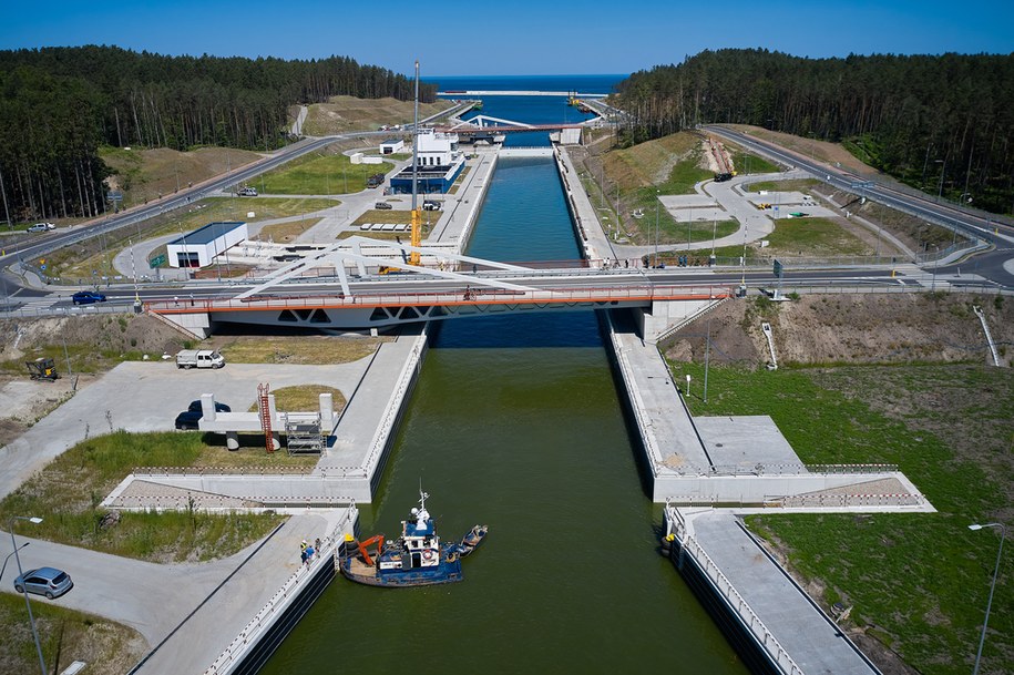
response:
M356 504L351 504L330 534L327 534L321 541L320 551L314 553L309 564L300 565L291 576L289 576L281 587L275 593L267 604L265 604L254 618L239 632L239 635L229 643L225 651L212 663L204 672L205 675L221 675L232 672L246 652L255 646L264 633L274 625L276 618L288 606L293 597L299 594L304 583L309 580L321 564L334 564L332 561L337 555L338 544L346 525L352 525L358 518L359 510Z

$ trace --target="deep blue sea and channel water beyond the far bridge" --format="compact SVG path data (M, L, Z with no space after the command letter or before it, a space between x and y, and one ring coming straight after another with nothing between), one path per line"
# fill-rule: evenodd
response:
M578 93L611 93L625 75L503 75L423 78L440 86L440 91L562 91ZM451 95L450 99L460 96ZM577 124L595 115L567 105L566 96L485 96L482 110L462 116L471 120L478 115L526 122L528 124ZM549 145L547 133L508 134L504 146Z

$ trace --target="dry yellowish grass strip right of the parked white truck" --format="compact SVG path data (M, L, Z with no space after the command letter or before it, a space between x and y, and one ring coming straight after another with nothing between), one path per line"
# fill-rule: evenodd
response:
M350 364L371 355L388 338L213 337L211 344L237 364Z

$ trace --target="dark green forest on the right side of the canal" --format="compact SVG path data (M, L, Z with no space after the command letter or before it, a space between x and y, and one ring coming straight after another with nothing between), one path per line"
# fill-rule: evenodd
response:
M841 142L872 166L949 200L1014 211L1014 54L809 59L704 51L618 85L639 143L705 123Z

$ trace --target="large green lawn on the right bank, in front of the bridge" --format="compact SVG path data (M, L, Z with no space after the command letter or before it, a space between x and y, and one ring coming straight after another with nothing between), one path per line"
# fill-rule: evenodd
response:
M674 372L704 381L699 365L679 364ZM948 385L954 402L942 410L938 395ZM918 672L956 674L971 667L997 545L967 524L1010 513L1012 471L956 456L952 448L961 447L970 427L986 425L987 438L970 446L1004 457L1014 419L1012 389L1008 372L977 366L774 372L713 367L708 403L692 398L690 407L695 415L770 415L805 462L897 463L912 479L939 513L766 514L748 523L785 546L789 564L805 577L821 580L826 591L818 600L824 606L853 606L854 625ZM892 408L899 393L905 397L901 412ZM982 402L992 405L983 410ZM950 427L953 438L925 428L930 411L944 417L941 428ZM1007 558L983 657L987 672L1014 665L1014 600L1004 581L1012 573Z

